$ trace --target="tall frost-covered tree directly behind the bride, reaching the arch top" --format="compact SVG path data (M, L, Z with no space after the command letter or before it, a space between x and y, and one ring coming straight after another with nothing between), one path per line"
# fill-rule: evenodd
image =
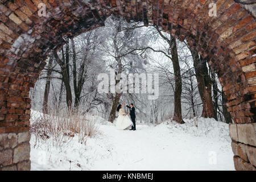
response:
M127 23L120 16L111 16L106 21L106 27L111 34L108 37L109 43L104 45L104 51L111 57L109 67L115 69L115 86L120 82L118 78L121 73L135 72L139 68L139 53L134 47L139 47L141 40L138 39L138 23ZM109 93L112 101L112 109L108 121L113 122L117 106L122 96L122 92Z

